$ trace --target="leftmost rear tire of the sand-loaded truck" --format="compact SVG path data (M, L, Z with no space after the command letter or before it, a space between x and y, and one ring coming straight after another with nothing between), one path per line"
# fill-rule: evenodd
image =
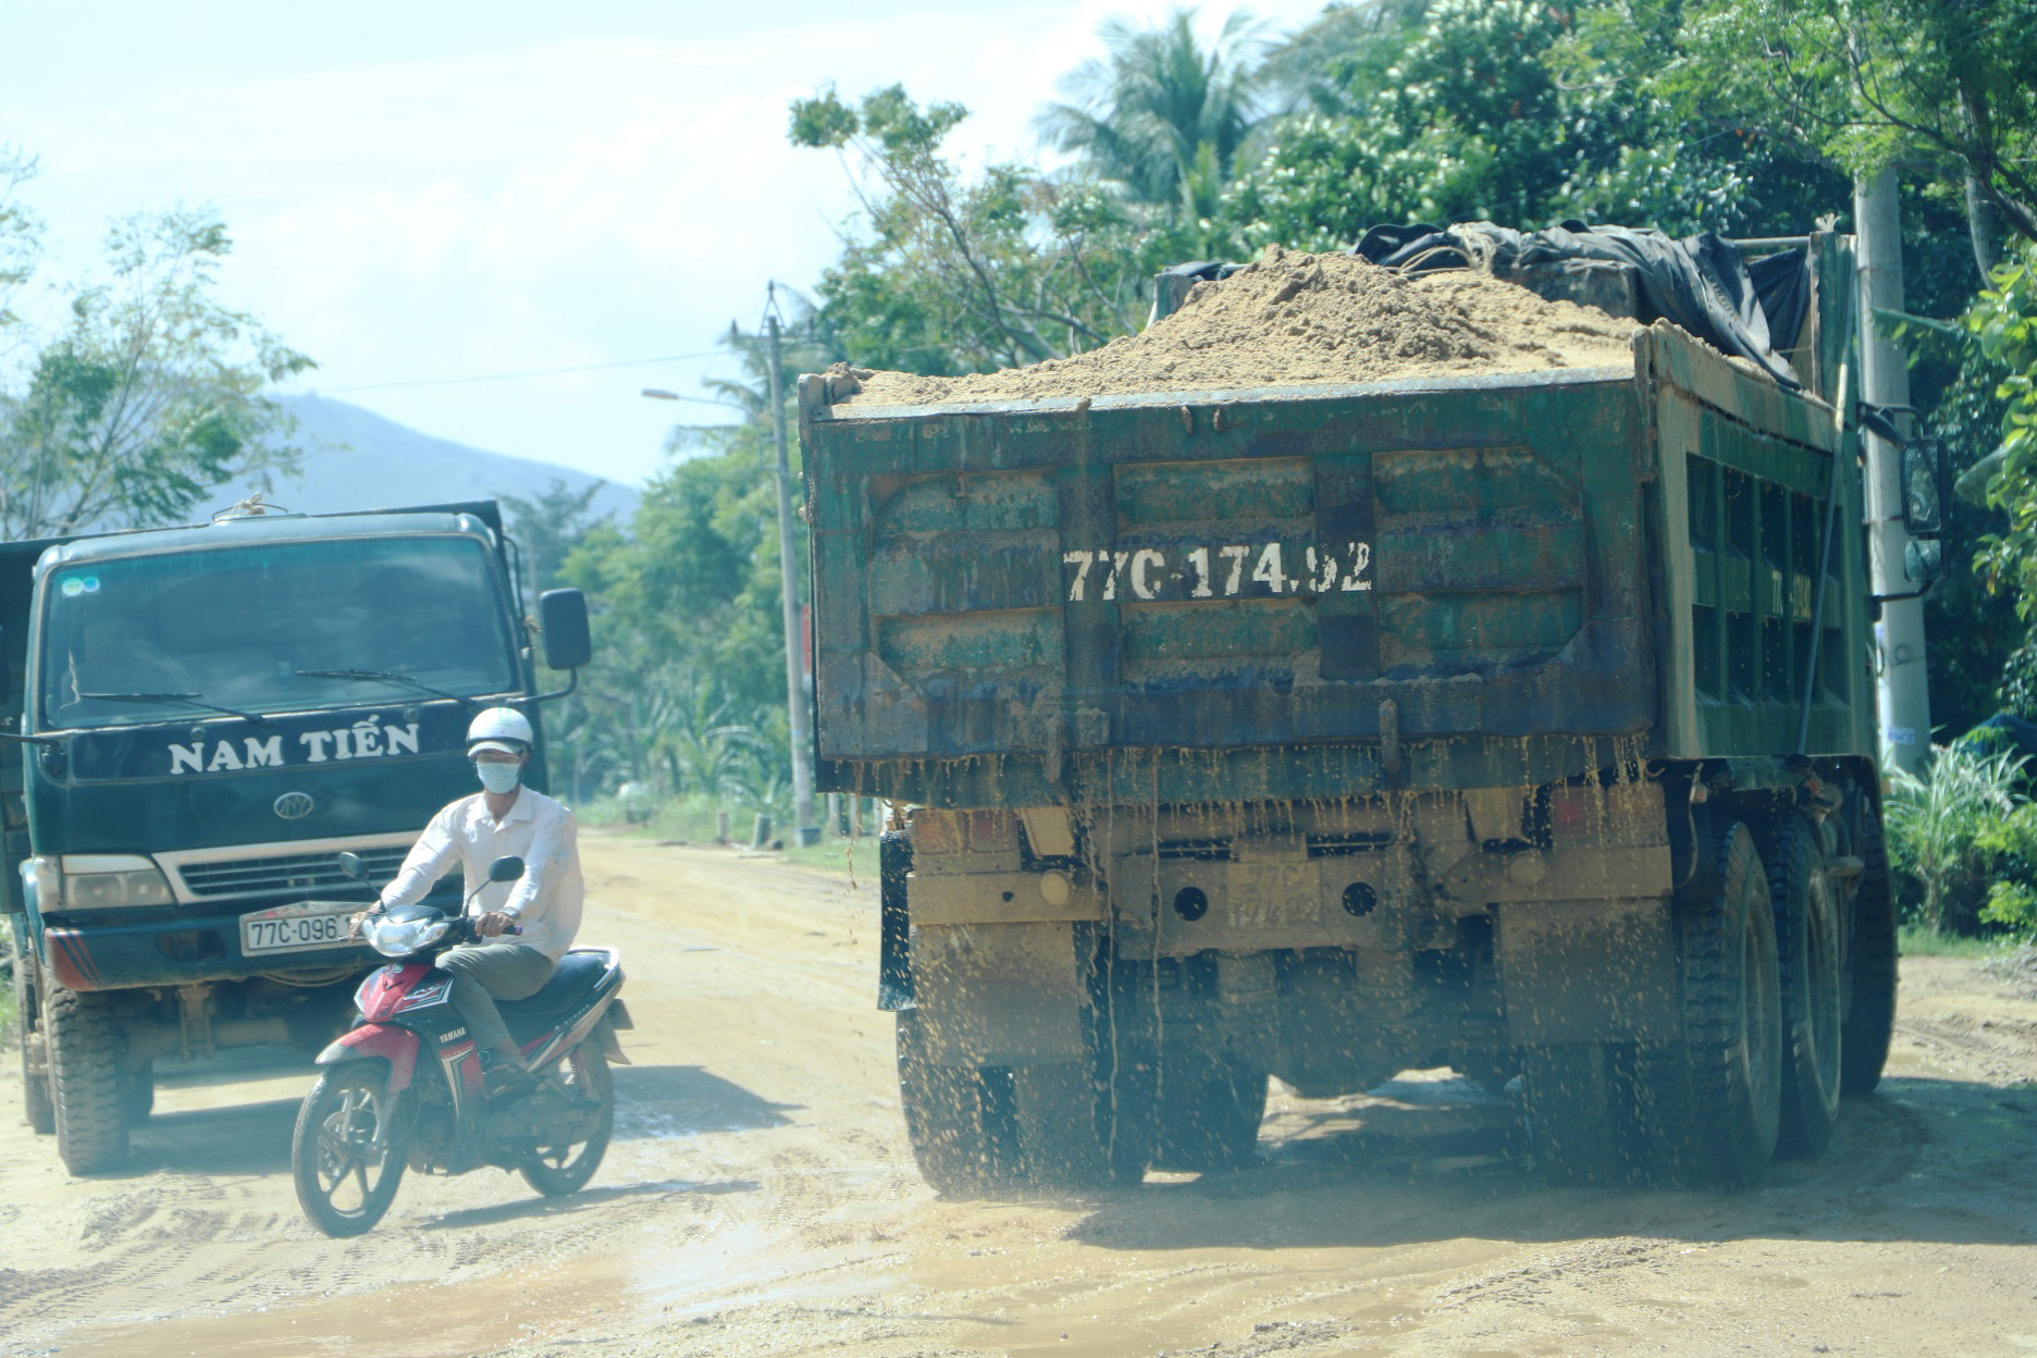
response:
M943 1197L970 1197L1016 1183L1012 1081L1008 1071L927 1059L919 1010L898 1010L898 1108L921 1179Z

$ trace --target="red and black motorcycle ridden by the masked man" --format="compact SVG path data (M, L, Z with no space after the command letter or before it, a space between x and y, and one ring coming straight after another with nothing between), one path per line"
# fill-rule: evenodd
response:
M340 871L367 884L356 855L338 857ZM521 875L515 857L489 865L489 884ZM365 922L369 947L393 961L361 981L361 1020L318 1055L324 1073L304 1095L289 1144L297 1203L328 1236L373 1230L405 1169L464 1175L495 1165L562 1197L587 1187L609 1148L609 1063L627 1065L615 1032L631 1026L621 957L570 949L536 996L497 1002L534 1079L491 1099L479 1046L452 1008L452 975L432 965L477 939L466 906L481 890L458 914L420 902Z

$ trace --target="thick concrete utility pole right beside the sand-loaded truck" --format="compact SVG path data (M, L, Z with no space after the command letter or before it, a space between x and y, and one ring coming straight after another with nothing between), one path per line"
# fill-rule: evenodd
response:
M1854 230L1860 246L1860 395L1874 405L1909 405L1909 360L1874 324L1876 309L1903 309L1896 171L1854 181ZM1903 523L1903 456L1886 438L1862 434L1868 452L1868 576L1882 601L1882 621L1874 625L1882 761L1921 774L1931 755L1931 686L1923 647L1923 582L1905 572L1911 535Z

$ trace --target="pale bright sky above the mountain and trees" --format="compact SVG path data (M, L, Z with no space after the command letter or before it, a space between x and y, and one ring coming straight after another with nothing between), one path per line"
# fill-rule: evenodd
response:
M972 110L949 147L1033 155L1098 24L1167 0L0 0L0 147L41 161L49 303L108 220L216 208L222 299L318 360L291 391L438 438L642 483L735 375L766 285L809 291L856 230L847 167L790 100L902 81ZM1206 0L1267 33L1322 0ZM660 358L660 362L640 362ZM603 366L615 364L615 366ZM548 377L513 373L599 369Z

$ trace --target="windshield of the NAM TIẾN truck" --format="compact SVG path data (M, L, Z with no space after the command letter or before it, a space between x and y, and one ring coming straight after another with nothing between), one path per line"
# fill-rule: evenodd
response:
M517 680L493 558L471 537L328 537L112 558L53 570L45 590L45 727L165 721L198 706L418 702L426 688L479 696ZM165 694L198 704L159 700Z

